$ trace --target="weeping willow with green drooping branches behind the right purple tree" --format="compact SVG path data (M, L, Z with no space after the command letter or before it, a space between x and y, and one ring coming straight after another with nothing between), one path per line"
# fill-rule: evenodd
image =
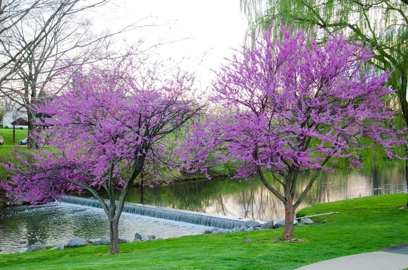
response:
M241 0L249 28L259 34L275 22L278 36L281 23L294 29L315 32L321 41L342 32L348 39L369 45L372 64L381 71L391 71L388 84L396 90L394 104L408 126L408 1L407 0ZM405 145L408 156L408 147ZM408 185L408 160L405 161ZM408 203L406 205L408 207Z

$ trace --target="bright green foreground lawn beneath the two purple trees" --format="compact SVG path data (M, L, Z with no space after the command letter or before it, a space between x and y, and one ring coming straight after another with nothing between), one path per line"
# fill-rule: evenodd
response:
M371 252L408 242L406 194L371 196L316 204L299 215L338 211L295 227L304 242L274 240L283 229L195 235L63 251L0 255L4 269L294 269L330 258ZM251 239L246 242L246 239Z

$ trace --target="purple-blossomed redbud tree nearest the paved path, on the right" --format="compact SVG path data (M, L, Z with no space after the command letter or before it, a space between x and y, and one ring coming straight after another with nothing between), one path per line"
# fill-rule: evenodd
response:
M211 163L237 161L235 177L262 183L285 206L282 239L294 238L294 213L330 158L361 165L356 151L369 138L395 157L403 131L386 124L389 73L369 65L372 53L342 36L321 45L303 32L282 28L254 38L221 68L212 101L222 115L195 123L181 146L184 169L207 172ZM300 193L297 178L310 172ZM271 180L269 180L271 179ZM296 193L295 193L296 192Z

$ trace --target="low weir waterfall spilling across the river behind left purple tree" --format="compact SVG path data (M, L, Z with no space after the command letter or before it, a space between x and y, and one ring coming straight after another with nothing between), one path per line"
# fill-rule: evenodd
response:
M89 207L102 208L100 202L96 199L81 198L75 196L71 197L61 196L60 201L64 203L72 203ZM106 203L109 206L109 202L107 201ZM152 218L181 221L197 225L217 227L222 229L233 229L235 227L245 226L245 222L242 220L214 217L213 215L203 214L199 212L169 209L136 203L125 203L123 206L123 212L146 215Z

